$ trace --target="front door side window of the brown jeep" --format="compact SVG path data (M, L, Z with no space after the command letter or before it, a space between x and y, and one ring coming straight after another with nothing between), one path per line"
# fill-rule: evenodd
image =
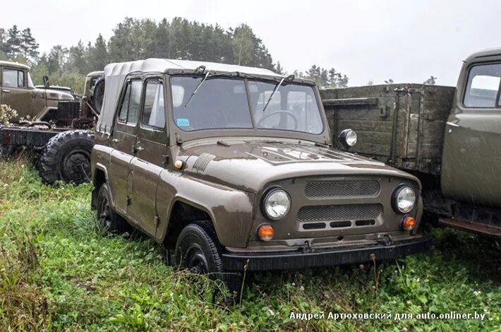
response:
M141 124L155 129L164 129L165 127L164 85L162 81L146 81Z

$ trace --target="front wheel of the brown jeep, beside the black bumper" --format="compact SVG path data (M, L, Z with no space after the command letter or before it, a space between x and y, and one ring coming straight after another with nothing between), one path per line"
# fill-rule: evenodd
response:
M192 273L219 273L229 290L239 291L241 275L223 273L221 249L212 225L207 223L191 223L181 230L174 252L176 265L188 268Z

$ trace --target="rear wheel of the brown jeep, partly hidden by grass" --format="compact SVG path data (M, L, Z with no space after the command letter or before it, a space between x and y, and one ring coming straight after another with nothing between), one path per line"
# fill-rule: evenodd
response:
M132 231L132 226L111 207L109 189L105 183L101 185L97 193L97 220L102 230L109 235L131 233Z

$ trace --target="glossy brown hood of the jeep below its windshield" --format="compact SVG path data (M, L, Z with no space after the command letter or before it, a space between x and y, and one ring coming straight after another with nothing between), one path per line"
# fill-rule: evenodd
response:
M191 141L183 143L177 159L186 162L185 174L250 192L281 179L315 175L375 174L418 182L382 162L310 142Z

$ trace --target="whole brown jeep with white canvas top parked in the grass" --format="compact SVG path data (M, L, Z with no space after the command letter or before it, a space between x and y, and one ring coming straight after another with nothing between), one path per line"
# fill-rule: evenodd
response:
M169 59L109 64L104 79L91 174L108 232L133 225L167 261L216 274L385 261L430 244L418 179L333 148L313 81Z

